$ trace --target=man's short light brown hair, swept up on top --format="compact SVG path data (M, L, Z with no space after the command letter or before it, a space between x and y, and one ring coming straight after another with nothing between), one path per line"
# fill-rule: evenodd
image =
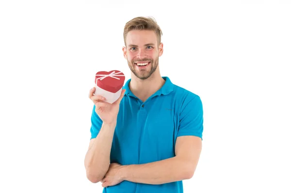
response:
M125 46L126 36L131 30L153 30L156 32L158 45L161 43L162 30L153 17L135 17L125 24L123 31Z

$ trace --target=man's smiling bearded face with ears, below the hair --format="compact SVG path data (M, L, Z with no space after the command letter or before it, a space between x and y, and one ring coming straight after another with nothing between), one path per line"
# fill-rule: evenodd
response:
M158 46L156 33L152 30L129 31L126 45L123 53L131 72L140 79L150 77L162 56L162 43Z

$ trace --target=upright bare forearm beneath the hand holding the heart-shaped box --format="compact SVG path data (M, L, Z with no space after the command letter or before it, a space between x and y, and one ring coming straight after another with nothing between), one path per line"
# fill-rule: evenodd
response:
M102 124L100 132L94 139L85 157L87 178L92 182L100 181L106 174L110 164L110 152L116 123Z

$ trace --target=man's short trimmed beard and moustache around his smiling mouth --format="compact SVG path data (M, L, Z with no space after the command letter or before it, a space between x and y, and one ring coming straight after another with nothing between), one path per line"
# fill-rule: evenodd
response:
M150 61L150 69L149 71L146 69L141 69L141 70L136 70L135 64L136 62L142 62L142 61ZM128 65L129 65L129 69L131 70L131 72L138 77L141 80L146 80L148 77L151 76L151 74L153 74L159 64L159 57L157 57L155 60L153 59L143 59L143 60L136 60L136 61L129 61L128 60Z

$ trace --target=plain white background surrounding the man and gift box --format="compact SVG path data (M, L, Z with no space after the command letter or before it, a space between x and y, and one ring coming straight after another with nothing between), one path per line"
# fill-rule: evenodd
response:
M2 0L0 192L102 192L84 168L88 92L97 71L130 78L124 25L153 16L162 76L204 105L203 149L184 192L290 193L289 2Z

